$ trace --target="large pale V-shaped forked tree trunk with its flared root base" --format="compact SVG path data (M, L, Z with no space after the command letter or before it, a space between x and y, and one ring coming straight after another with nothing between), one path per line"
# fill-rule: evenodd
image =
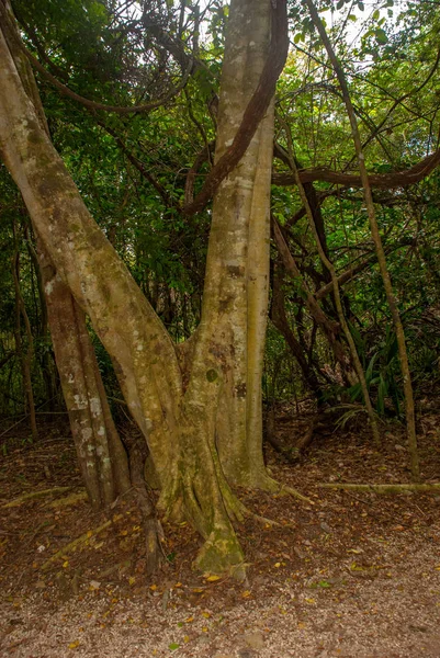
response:
M1 1L1 0L0 0ZM264 64L270 2L235 0L222 78L217 158L227 148ZM13 48L12 48L13 49ZM269 285L272 110L213 209L201 325L183 386L174 345L90 217L35 115L0 39L0 144L57 275L91 319L144 433L161 506L205 540L200 568L241 570L229 483L273 487L261 449L261 363Z

